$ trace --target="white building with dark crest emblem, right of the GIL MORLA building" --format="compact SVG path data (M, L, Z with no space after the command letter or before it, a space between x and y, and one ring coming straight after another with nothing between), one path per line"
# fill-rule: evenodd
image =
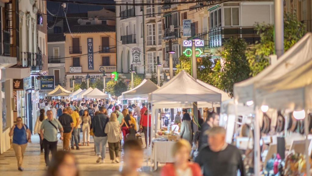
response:
M131 64L134 66L136 74L146 73L147 63L146 54L144 55L144 33L145 25L144 18L141 16L144 13L144 8L135 5L118 5L119 3L136 3L135 1L115 1L116 6L116 43L117 43L117 71L119 77L126 80L131 79ZM156 25L156 23L154 23ZM154 31L155 32L155 31ZM152 32L153 33L153 32ZM154 44L153 39L149 42ZM147 41L146 41L147 42Z

